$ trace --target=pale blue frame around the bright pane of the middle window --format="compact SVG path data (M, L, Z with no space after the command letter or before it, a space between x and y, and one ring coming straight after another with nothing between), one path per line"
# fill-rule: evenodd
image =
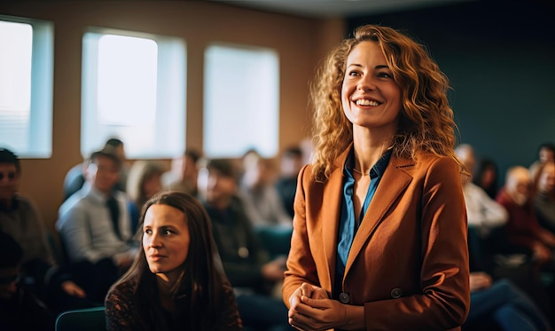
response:
M103 35L122 35L151 39L158 45L155 135L152 141L134 146L117 130L103 130L97 120L98 40ZM176 37L124 31L112 28L87 28L82 50L82 137L83 157L101 148L108 138L120 138L131 159L158 159L183 154L185 148L186 50Z

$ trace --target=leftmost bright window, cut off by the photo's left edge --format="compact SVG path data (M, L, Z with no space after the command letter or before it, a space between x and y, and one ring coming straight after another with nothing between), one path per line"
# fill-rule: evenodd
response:
M51 157L53 29L0 15L0 145L21 157Z

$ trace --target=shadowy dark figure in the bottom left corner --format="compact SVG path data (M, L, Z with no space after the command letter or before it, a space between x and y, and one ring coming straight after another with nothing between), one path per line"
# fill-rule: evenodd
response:
M54 330L55 316L21 281L23 250L0 232L0 330Z

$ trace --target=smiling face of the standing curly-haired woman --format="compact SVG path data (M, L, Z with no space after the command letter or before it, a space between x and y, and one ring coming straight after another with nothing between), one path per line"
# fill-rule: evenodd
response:
M358 43L348 54L341 88L343 112L354 125L396 131L401 88L378 43Z

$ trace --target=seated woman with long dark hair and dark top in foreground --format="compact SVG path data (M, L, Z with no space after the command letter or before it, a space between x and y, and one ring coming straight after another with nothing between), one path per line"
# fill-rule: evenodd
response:
M107 329L242 329L199 201L187 193L159 193L141 214L143 249L106 296Z

